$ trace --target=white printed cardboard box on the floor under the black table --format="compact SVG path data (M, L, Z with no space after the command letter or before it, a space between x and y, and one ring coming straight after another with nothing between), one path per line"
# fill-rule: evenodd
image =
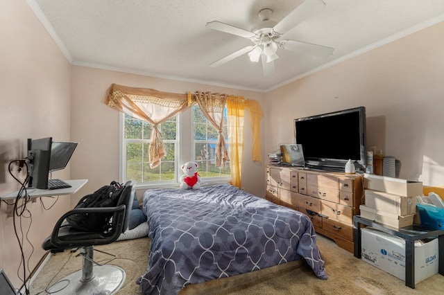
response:
M415 243L415 283L438 274L438 239ZM405 240L372 228L361 229L361 259L405 281Z

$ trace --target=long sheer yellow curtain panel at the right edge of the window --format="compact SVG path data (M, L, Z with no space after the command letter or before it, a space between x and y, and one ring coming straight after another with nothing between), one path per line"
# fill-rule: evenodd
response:
M242 152L244 151L244 97L227 96L226 106L231 184L241 188Z

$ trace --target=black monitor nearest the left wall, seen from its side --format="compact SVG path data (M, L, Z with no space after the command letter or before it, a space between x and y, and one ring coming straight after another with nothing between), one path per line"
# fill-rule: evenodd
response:
M28 186L31 188L48 188L49 163L51 160L52 137L28 138Z

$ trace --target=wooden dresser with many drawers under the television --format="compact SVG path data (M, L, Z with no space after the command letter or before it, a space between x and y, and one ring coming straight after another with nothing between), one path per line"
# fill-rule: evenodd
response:
M305 213L316 233L353 253L353 215L364 204L361 175L266 166L265 197Z

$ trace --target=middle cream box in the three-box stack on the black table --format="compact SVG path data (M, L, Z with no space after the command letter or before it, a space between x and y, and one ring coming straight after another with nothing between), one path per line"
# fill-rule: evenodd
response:
M379 190L365 190L366 206L395 215L416 213L416 197L402 197Z

